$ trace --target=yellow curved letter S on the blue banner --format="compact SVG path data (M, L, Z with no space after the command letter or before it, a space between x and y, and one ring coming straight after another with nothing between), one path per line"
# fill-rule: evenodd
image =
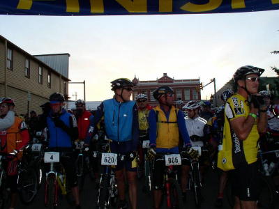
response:
M209 0L209 3L204 4L195 4L195 3L186 3L184 6L181 6L181 10L186 10L188 12L200 13L215 10L222 3L222 0Z

